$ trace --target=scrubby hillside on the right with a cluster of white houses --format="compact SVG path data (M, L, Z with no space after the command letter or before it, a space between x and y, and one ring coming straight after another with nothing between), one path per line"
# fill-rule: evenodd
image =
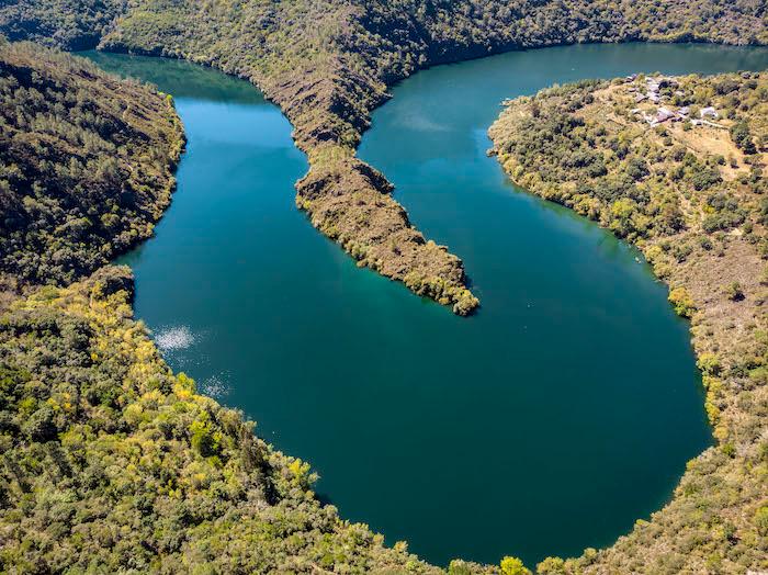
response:
M718 440L650 522L544 573L768 568L767 114L766 72L633 76L520 98L489 131L516 183L635 244L669 284Z

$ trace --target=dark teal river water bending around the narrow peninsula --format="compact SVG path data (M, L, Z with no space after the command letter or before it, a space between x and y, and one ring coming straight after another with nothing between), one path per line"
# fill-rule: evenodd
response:
M637 253L485 157L498 102L631 71L758 69L768 52L573 46L420 72L360 155L483 302L462 319L359 270L293 204L291 126L245 82L92 56L176 95L189 148L157 237L126 258L171 365L308 460L342 517L425 559L529 565L610 544L710 442L688 327Z

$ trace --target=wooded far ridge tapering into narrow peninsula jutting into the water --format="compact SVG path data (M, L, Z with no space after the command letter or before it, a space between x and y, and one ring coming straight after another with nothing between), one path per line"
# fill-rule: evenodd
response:
M99 30L103 47L185 57L258 83L309 155L297 204L312 223L360 266L467 314L477 301L461 260L426 241L386 179L354 158L387 84L430 64L517 47L766 43L764 12L760 0L12 0L0 8L0 31L72 46Z

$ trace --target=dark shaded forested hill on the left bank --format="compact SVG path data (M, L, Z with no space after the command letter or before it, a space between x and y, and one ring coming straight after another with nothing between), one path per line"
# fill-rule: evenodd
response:
M67 284L149 237L182 147L170 97L0 45L0 277Z

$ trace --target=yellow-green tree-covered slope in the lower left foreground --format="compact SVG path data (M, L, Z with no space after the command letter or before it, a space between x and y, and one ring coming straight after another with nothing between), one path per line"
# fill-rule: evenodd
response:
M307 464L172 374L132 295L106 267L0 320L3 573L439 572L341 521Z

